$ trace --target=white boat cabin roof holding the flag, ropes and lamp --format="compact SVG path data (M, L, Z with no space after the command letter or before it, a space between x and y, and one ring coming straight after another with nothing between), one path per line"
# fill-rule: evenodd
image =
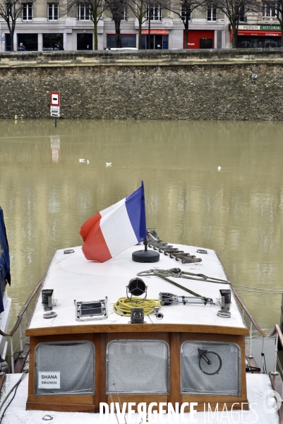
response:
M223 266L217 254L211 249L206 249L207 254L198 254L196 251L200 247L174 245L184 252L195 254L203 259L196 264L181 264L181 261L171 259L169 256L160 254L159 262L155 264L140 264L131 259L132 252L143 249L143 245L126 249L118 256L103 264L85 259L81 247L73 247L73 254L64 254L64 249L58 250L52 259L47 276L44 281L44 289L54 289L54 299L57 300L53 308L57 317L54 319L44 319L44 307L41 295L37 300L35 312L29 325L29 329L52 328L60 326L80 326L106 324L128 324L128 317L121 317L113 310L114 303L121 297L126 296L126 285L131 278L136 277L140 271L152 268L171 269L181 268L182 271L193 273L203 273L205 276L221 278L227 280ZM147 298L159 298L160 292L174 293L174 295L190 294L157 276L141 277L147 285ZM171 278L171 277L170 277ZM186 286L196 293L215 302L219 298L219 289L227 289L229 285L219 283L209 283L205 281L188 280L184 278L171 278L176 283ZM99 321L76 321L76 308L74 300L78 302L90 302L108 298L108 318ZM140 305L142 307L142 305ZM225 319L217 316L219 305L170 305L162 307L164 318L158 320L154 314L145 317L145 322L149 324L202 324L210 326L226 326L246 329L236 300L231 293L231 317ZM101 329L103 331L103 329Z

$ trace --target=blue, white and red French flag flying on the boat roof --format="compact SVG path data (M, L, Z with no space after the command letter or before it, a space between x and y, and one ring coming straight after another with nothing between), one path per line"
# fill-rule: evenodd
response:
M81 227L83 254L105 262L146 238L145 193L141 187L89 218Z

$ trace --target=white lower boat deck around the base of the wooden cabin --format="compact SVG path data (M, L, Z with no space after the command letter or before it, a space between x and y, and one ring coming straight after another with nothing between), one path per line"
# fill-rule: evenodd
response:
M13 387L16 382L20 379L21 375L19 374L10 374L6 376L6 383L4 385L4 390L2 391L2 398L8 393L8 391ZM198 412L195 413L193 418L195 423L221 423L221 424L230 424L230 423L258 423L258 424L278 424L279 416L277 412L270 413L271 406L268 406L268 391L272 389L270 384L270 379L268 375L262 374L248 374L247 376L247 388L248 388L248 401L251 406L249 411L219 411L218 417L215 414L214 418L210 417L207 413ZM11 400L11 396L5 402L1 413L3 413L4 408L8 401ZM48 421L52 424L101 424L101 423L116 423L117 419L114 416L114 420L100 420L100 413L78 413L78 412L56 412L56 411L26 411L26 401L28 397L28 374L23 378L23 381L20 383L18 390L16 392L15 399L13 399L10 406L8 406L2 424L30 424L30 423L43 423L42 418L46 415L52 416L52 420ZM103 417L104 418L104 417ZM102 419L103 419L102 418ZM158 419L161 417L158 417ZM186 422L190 422L190 416L188 413L183 414L183 418L186 419ZM151 421L152 422L152 421ZM162 416L162 421L157 420L157 422L162 423L174 423L174 418L169 420L167 415ZM179 423L181 423L181 416L179 416ZM183 421L184 422L184 421ZM193 422L193 421L191 421ZM140 423L140 418L138 414L133 414L131 416L131 421L126 414L126 421L120 420L119 424L130 424L130 423Z

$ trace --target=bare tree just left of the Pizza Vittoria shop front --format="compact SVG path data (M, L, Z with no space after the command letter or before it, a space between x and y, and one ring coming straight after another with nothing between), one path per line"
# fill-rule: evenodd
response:
M262 8L258 0L209 0L207 6L217 7L229 19L233 48L238 47L239 23L246 20L246 13L258 13Z

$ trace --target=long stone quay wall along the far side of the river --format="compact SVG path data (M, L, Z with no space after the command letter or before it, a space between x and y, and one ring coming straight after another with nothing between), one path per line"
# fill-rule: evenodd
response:
M0 118L50 118L51 91L62 119L282 120L283 49L0 54Z

